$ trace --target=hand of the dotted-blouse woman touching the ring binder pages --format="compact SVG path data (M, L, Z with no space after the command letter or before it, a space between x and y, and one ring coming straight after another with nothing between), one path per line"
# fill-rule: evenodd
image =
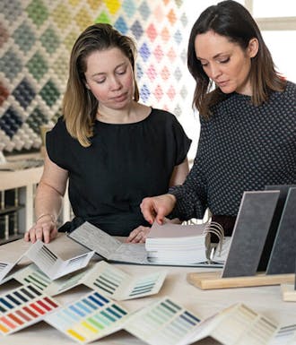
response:
M173 211L176 205L176 197L173 194L162 194L144 198L140 207L144 219L150 224L156 220L159 224L164 222L165 216Z

